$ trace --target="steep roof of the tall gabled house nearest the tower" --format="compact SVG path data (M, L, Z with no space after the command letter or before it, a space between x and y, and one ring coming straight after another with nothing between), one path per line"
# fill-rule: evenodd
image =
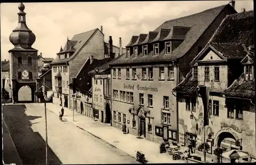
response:
M97 28L97 29L90 30L88 32L74 35L74 37L68 41L69 43L68 42L66 43L67 51L69 51L71 49L71 45L73 45L73 48L75 49L74 54L71 57L69 57L68 59L60 59L60 60L55 59L53 62L51 62L51 64L68 62L71 59L73 59L76 56L76 54L80 51L80 49L88 43L90 38L92 38L92 36L96 33L97 30L99 31L99 29ZM76 44L74 45L74 43L76 43ZM70 45L70 47L68 46L68 44ZM65 48L63 49L63 51L66 51Z

